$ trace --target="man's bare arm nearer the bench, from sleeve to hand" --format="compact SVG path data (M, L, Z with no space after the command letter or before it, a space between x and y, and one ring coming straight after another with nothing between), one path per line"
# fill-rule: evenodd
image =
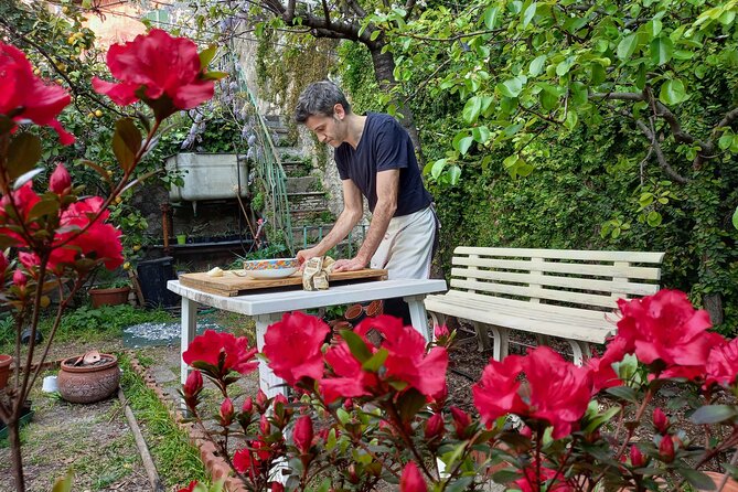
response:
M387 232L389 221L397 210L397 193L399 192L399 169L388 169L376 173L377 202L372 213L372 221L364 243L352 259L340 259L333 271L353 271L366 267L379 247L379 243Z

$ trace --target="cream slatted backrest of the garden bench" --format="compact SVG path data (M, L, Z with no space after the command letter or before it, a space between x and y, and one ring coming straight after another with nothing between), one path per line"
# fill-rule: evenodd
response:
M609 311L659 290L664 253L484 248L453 252L451 287L475 293Z

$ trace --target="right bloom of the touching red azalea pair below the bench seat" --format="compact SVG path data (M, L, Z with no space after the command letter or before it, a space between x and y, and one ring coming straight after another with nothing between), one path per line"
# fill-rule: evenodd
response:
M589 405L590 371L565 361L547 346L532 350L522 364L531 387L530 416L549 421L554 439L569 435Z

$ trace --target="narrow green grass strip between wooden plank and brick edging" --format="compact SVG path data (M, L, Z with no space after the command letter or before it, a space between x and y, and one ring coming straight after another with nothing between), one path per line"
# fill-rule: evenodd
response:
M120 386L136 414L157 470L168 490L184 486L191 480L207 481L197 448L188 440L169 416L167 407L132 370L126 355L119 359L124 370Z

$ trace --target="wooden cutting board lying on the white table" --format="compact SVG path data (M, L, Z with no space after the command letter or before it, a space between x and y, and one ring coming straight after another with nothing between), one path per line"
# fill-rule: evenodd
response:
M244 270L238 270L243 272ZM339 271L328 277L330 284L343 280L386 280L387 270L364 268L357 271ZM233 271L226 270L223 277L211 277L205 272L182 274L180 284L185 287L202 290L203 292L217 293L218 296L234 297L247 290L270 289L276 287L302 286L302 274L296 272L285 278L250 278L240 277Z

